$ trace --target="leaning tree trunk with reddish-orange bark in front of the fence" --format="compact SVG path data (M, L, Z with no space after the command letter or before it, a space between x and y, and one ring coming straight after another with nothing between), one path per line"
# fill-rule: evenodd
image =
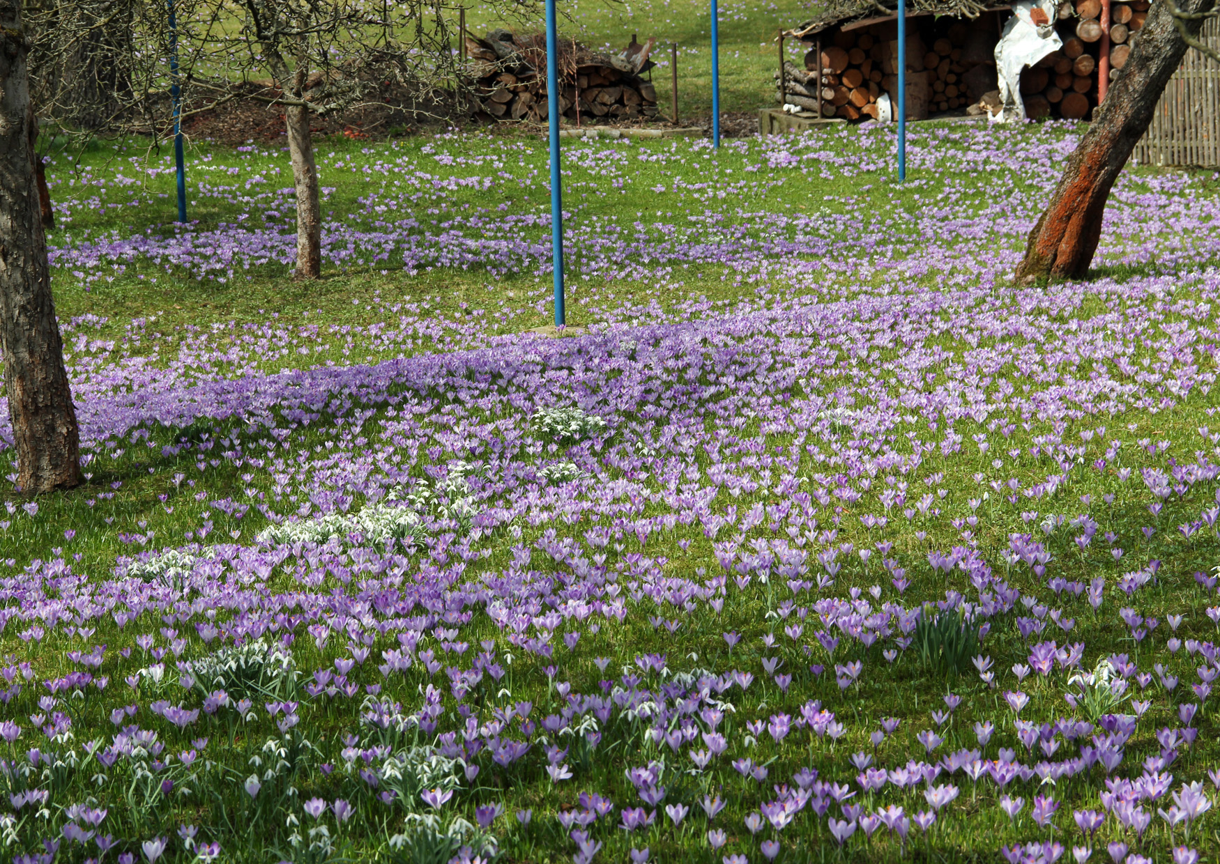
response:
M1185 12L1207 12L1216 0L1183 0ZM1198 34L1202 21L1187 29ZM1110 188L1148 129L1161 91L1186 54L1186 43L1163 2L1154 2L1138 32L1122 74L1093 113L1093 122L1069 157L1050 204L1030 233L1016 269L1024 283L1044 278L1083 279L1102 236Z

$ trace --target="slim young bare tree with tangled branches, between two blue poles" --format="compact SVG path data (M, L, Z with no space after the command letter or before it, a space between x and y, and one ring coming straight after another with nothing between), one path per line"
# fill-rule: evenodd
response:
M468 82L449 29L453 7L440 0L188 0L188 6L185 41L195 54L183 66L196 97L193 110L242 88L243 97L284 111L296 188L295 274L316 279L322 224L312 121L388 102L428 113L466 99Z

